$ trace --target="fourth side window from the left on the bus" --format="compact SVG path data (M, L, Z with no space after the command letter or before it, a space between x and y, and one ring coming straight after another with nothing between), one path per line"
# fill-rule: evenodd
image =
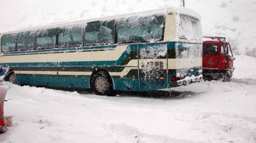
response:
M58 35L58 46L79 46L83 44L82 26L71 25L60 27Z

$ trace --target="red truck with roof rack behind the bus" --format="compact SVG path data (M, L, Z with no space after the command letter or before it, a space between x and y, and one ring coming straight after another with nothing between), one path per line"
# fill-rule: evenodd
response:
M205 81L228 81L235 69L234 60L226 38L203 37L203 78Z

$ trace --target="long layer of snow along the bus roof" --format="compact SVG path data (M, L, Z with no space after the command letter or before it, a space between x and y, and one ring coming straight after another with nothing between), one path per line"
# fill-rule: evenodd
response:
M22 28L22 29L19 29L19 30L2 33L2 34L0 34L0 38L4 34L19 33L19 32L39 30L39 29L45 29L45 28L52 28L52 27L57 27L57 26L73 25L73 24L86 24L88 22L101 21L101 20L113 20L113 19L120 19L120 18L126 18L126 17L128 18L128 17L131 17L131 16L146 16L146 15L151 15L151 14L164 14L165 15L166 13L171 14L171 12L175 12L177 14L189 15L189 16L195 17L199 20L201 19L199 13L197 13L196 11L194 11L190 8L168 7L168 8L161 8L161 9L155 9L155 10L127 13L127 14L122 14L122 15L113 15L113 16L108 16L108 17L100 17L100 18L95 18L95 19L87 19L87 20L80 20L80 21L73 21L73 22L60 22L60 23L54 23L54 24L38 25L38 26L34 26L34 27Z

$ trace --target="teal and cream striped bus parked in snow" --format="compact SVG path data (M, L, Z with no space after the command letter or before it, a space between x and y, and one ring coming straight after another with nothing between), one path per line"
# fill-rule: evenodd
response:
M165 8L2 33L0 67L20 85L148 91L202 79L200 15Z

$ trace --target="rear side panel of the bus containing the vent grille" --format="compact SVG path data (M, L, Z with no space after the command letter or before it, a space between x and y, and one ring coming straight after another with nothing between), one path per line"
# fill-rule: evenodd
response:
M139 44L140 91L167 88L167 46L165 44Z

